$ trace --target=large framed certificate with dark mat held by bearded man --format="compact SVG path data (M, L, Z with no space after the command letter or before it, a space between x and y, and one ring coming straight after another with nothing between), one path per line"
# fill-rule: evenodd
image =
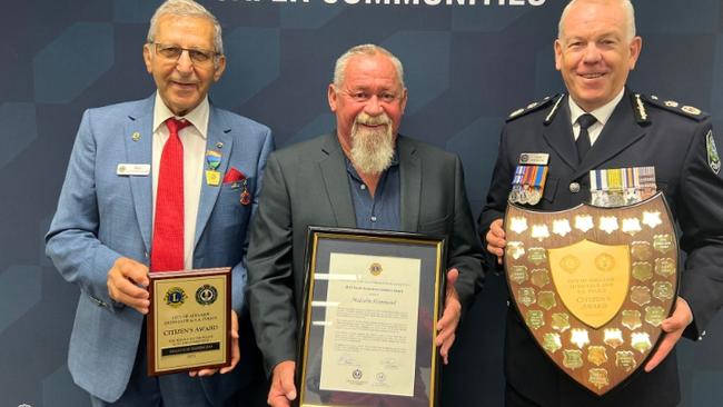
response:
M444 238L309 228L299 406L436 406Z

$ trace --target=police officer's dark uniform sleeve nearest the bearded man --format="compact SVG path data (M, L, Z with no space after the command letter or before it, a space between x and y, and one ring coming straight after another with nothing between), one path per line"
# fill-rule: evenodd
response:
M487 240L486 235L489 230L489 225L495 219L501 219L505 217L505 210L507 209L507 197L509 195L509 186L512 182L513 171L509 160L507 159L507 148L506 137L507 127L502 131L499 137L499 148L497 150L497 161L495 162L495 168L492 172L492 180L489 181L489 190L487 192L487 202L482 208L482 214L479 214L479 240L482 241L485 262L487 264L491 270L496 269L502 271L502 267L497 265L497 257L487 251Z

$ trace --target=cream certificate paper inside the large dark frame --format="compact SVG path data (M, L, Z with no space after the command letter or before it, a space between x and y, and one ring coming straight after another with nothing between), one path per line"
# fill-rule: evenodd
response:
M320 389L414 395L419 259L331 254Z

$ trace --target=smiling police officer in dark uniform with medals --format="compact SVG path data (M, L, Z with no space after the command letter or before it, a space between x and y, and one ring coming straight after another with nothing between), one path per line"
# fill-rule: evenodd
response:
M675 406L681 396L674 346L681 336L702 339L723 304L723 179L711 121L696 108L625 87L641 48L630 0L567 4L555 41L555 66L567 92L511 115L479 230L489 261L501 265L509 198L538 210L568 209L590 201L591 170L652 166L687 255L675 311L663 321L662 343L644 369L597 397L557 369L511 307L507 406ZM531 157L548 168L544 190L532 198L511 196L517 165Z

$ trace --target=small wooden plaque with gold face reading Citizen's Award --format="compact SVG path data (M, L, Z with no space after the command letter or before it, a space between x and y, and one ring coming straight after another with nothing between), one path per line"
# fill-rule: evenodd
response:
M149 376L230 365L230 270L150 274Z

